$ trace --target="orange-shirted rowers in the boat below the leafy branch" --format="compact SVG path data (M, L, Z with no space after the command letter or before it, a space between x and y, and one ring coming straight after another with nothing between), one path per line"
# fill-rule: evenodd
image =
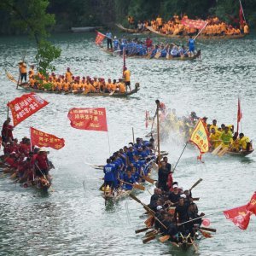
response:
M26 63L20 62L21 84L26 83ZM44 76L41 73L35 73L34 66L30 67L28 72L29 86L38 90L51 90L63 92L88 93L125 93L131 91L131 72L125 67L123 79L108 79L73 76L70 68L67 67L65 75L56 75L55 73Z

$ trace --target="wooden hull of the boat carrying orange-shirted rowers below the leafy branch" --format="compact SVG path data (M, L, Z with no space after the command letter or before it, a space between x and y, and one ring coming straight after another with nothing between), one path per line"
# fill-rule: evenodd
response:
M17 84L17 80L14 79L14 77L6 72L6 75L8 77L8 79ZM112 93L106 93L106 92L89 92L84 94L83 91L78 91L78 90L73 90L73 91L56 91L56 90L40 90L40 89L35 89L32 88L31 86L29 86L29 84L27 83L23 83L23 84L18 84L18 88L21 88L23 90L28 90L28 91L32 91L32 92L39 92L39 93L53 93L53 94L63 94L63 95L75 95L75 96L111 96L111 97L127 97L127 96L131 96L135 93L137 93L137 91L140 90L140 84L136 83L135 84L135 89L131 90L131 91L127 91L124 93L120 93L120 92L112 92Z

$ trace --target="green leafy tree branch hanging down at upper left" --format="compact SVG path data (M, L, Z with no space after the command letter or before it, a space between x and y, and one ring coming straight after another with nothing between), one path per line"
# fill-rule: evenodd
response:
M47 69L55 69L50 63L61 55L61 49L46 41L49 28L55 24L55 15L46 12L48 5L47 0L1 0L0 3L1 9L9 11L12 26L19 27L34 38L38 49L38 69L44 73Z

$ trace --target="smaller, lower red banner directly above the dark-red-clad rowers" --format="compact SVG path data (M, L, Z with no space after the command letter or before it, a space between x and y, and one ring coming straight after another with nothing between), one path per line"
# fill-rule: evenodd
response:
M30 127L30 137L32 146L55 149L61 149L65 146L65 140L63 138L55 137L52 134L39 131L32 127Z

